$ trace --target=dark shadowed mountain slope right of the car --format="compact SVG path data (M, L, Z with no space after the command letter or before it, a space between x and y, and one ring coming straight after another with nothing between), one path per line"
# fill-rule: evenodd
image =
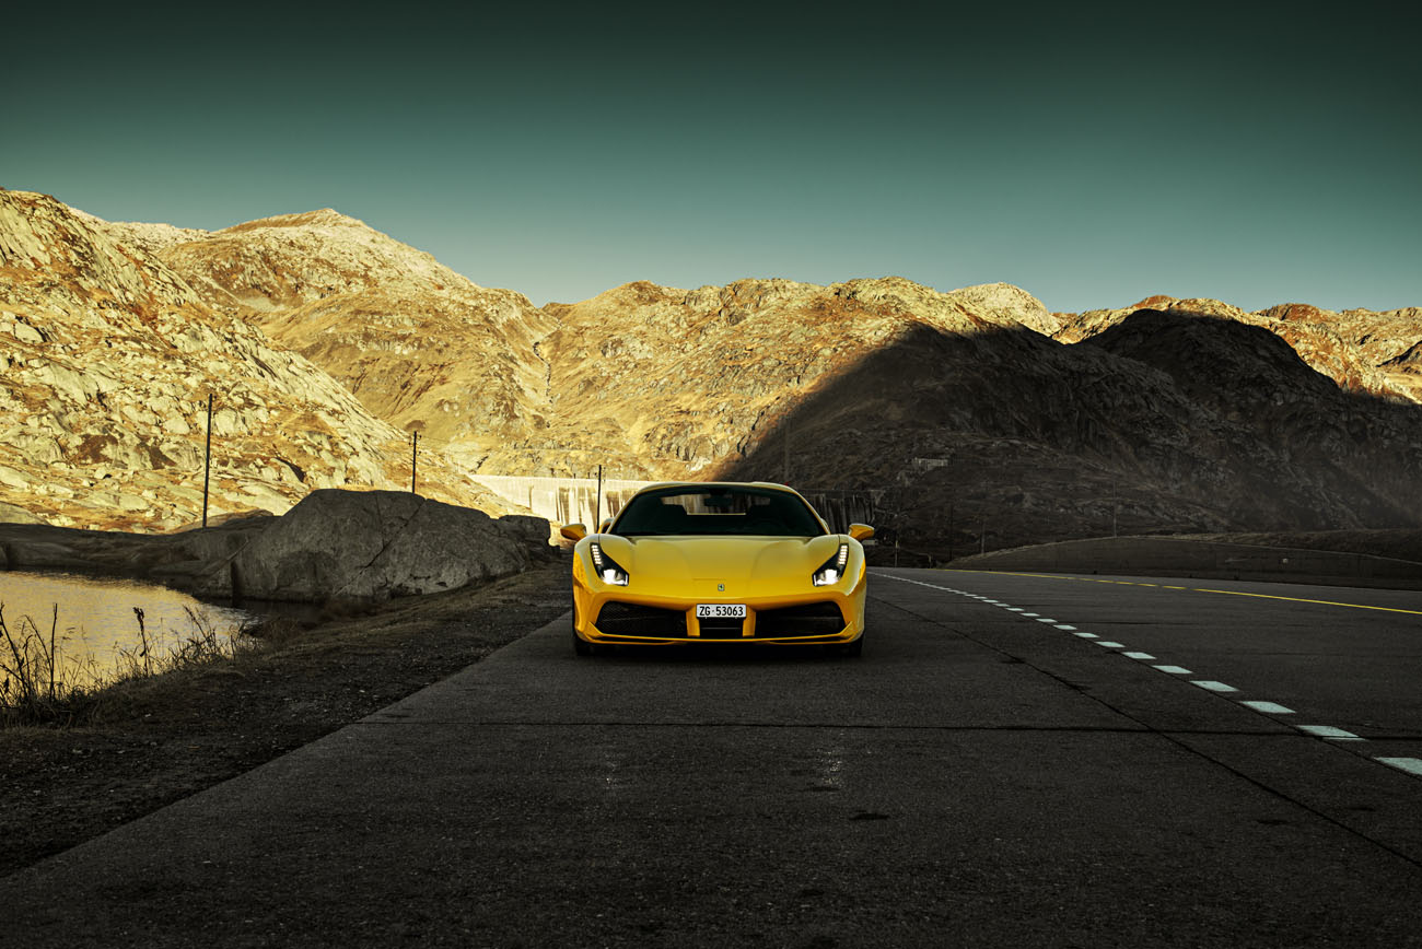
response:
M1140 311L1089 342L916 330L778 423L735 477L886 490L903 544L1416 527L1422 409L1347 394L1277 337ZM983 533L987 533L984 543Z

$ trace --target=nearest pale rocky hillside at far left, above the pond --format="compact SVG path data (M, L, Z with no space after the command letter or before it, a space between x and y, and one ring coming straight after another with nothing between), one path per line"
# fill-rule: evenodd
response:
M408 436L156 254L192 239L0 190L0 501L58 526L169 530L316 487L410 484ZM422 490L508 510L435 452Z

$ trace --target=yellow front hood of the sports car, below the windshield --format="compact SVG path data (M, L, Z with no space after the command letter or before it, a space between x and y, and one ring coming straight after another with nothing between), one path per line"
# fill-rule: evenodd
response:
M737 597L793 584L809 585L816 567L835 555L842 537L616 537L603 550L637 587ZM721 590L720 587L725 588Z

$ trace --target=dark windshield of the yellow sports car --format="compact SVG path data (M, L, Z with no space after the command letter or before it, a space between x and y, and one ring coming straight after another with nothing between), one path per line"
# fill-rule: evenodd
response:
M633 497L613 534L819 537L823 524L798 494L764 487L667 487Z

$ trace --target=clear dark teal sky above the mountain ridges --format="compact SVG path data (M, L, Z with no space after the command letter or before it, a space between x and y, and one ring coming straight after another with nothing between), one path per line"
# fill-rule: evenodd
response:
M538 304L899 274L1422 305L1401 4L796 6L7 10L0 185L203 229L336 207Z

